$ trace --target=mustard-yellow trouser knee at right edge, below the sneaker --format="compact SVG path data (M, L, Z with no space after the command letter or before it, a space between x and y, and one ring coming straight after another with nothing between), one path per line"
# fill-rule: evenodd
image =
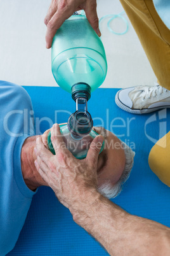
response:
M153 146L148 163L160 180L170 187L170 131Z

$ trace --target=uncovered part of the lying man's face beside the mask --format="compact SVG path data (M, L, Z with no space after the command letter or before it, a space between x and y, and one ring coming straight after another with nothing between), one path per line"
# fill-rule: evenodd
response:
M115 184L121 177L126 162L121 141L103 127L93 127L93 130L105 138L105 148L98 157L98 186L108 182Z

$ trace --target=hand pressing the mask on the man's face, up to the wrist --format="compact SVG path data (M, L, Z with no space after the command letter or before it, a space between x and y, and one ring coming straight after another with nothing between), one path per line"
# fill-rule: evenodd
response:
M53 125L51 129L51 142L56 155L46 148L42 138L36 141L34 151L37 155L37 171L64 206L72 213L82 211L93 204L100 195L97 192L96 168L103 136L93 139L88 155L83 160L75 159L67 150L58 124Z

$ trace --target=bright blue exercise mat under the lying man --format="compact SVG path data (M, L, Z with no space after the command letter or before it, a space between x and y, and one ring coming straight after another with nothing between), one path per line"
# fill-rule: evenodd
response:
M37 134L55 122L67 122L75 111L71 95L58 87L24 88L32 99ZM88 102L95 125L105 125L106 129L135 148L129 180L113 202L133 215L170 227L170 188L148 166L150 149L170 130L170 110L145 115L126 113L115 104L117 90L97 89ZM58 202L51 188L41 187L32 200L16 246L8 255L99 256L108 253L74 223L70 211Z

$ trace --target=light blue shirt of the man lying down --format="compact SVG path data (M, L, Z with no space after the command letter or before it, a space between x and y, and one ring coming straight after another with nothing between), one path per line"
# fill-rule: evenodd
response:
M32 192L22 176L23 142L34 136L34 113L22 87L0 81L0 255L10 252L22 230Z

